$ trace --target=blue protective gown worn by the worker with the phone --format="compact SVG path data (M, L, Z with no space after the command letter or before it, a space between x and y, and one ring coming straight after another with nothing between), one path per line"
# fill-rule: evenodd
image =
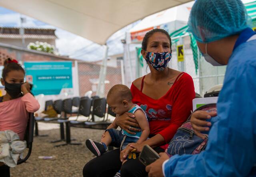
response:
M256 176L256 40L235 47L206 150L171 157L163 165L166 177Z

